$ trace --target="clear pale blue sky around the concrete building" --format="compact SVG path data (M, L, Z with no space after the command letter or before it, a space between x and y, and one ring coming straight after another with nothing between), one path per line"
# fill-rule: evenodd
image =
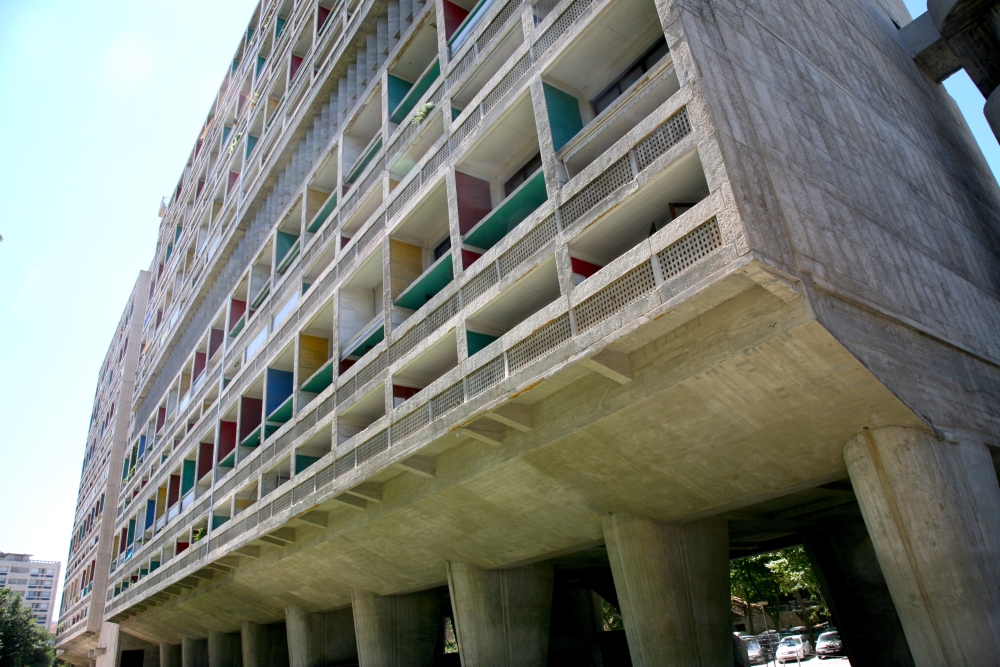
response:
M0 0L0 551L65 561L97 371L255 1Z

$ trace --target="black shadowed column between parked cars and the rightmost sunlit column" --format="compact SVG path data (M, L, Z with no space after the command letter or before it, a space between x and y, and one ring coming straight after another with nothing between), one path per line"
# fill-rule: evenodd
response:
M820 520L802 532L852 667L913 667L910 647L860 516Z

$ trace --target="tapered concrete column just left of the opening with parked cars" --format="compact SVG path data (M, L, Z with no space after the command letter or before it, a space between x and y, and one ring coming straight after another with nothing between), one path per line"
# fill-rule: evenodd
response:
M634 667L732 664L724 519L667 525L611 514L604 540Z

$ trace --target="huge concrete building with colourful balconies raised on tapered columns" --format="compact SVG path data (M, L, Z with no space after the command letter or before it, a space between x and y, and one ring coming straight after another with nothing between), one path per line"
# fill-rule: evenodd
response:
M162 210L98 665L728 665L729 559L791 544L852 664L998 664L1000 189L909 23L262 3Z

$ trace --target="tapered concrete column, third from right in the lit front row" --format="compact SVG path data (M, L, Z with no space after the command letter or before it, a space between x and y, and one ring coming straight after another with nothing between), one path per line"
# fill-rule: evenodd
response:
M545 667L551 566L483 570L448 563L448 590L462 667Z

